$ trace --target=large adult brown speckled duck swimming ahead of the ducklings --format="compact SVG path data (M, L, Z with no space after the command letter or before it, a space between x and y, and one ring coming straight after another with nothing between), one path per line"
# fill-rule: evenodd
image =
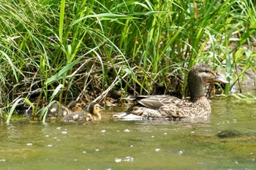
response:
M170 120L206 119L211 115L211 106L205 96L203 85L206 82L222 82L208 64L200 63L192 67L188 74L190 101L167 95L136 96L138 104L127 112L114 115L124 119L167 118Z

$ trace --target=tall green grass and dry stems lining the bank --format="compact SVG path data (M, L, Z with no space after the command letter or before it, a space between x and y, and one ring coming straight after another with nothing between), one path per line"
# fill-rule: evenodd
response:
M170 93L177 84L184 94L187 70L200 62L235 83L255 72L255 16L252 0L2 0L1 107L24 101L36 114L53 100Z

